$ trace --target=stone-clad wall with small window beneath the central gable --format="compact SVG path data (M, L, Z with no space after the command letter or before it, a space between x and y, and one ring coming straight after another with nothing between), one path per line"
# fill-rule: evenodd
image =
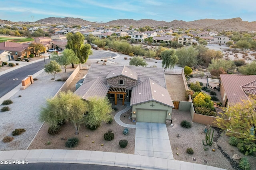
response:
M119 84L119 80L124 80L124 84ZM136 85L136 80L132 80L125 76L117 76L108 79L107 84L110 87L126 88L127 90L132 90L132 88Z

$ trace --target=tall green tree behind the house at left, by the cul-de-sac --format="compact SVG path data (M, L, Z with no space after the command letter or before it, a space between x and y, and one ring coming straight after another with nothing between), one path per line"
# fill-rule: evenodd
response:
M66 45L67 49L72 49L75 55L79 58L80 63L85 63L89 55L92 54L91 46L89 44L84 44L84 35L80 32L74 34L67 34L68 43ZM74 68L74 63L72 63Z

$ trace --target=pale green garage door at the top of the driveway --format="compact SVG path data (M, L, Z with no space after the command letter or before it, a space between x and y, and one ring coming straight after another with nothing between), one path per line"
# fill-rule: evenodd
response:
M142 110L137 109L137 121L152 122L152 123L165 123L167 111L163 110Z

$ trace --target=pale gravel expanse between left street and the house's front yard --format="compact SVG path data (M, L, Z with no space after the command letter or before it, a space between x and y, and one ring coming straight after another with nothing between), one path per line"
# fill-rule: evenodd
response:
M63 76L69 76L72 69L56 74L56 80ZM25 90L19 90L10 100L13 104L8 105L10 111L0 112L0 150L22 150L26 149L37 131L42 125L38 117L40 108L46 102L46 98L50 98L58 92L64 84L63 81L54 81L52 74L42 72L36 77L38 80ZM18 97L21 95L21 97ZM0 105L0 108L3 106ZM24 128L26 132L15 136L10 143L4 143L2 139L11 136L14 129Z

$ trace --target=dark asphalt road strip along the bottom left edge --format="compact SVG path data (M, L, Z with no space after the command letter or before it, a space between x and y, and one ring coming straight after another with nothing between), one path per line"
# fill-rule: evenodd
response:
M0 165L0 170L132 170L117 166L68 163L29 163Z

